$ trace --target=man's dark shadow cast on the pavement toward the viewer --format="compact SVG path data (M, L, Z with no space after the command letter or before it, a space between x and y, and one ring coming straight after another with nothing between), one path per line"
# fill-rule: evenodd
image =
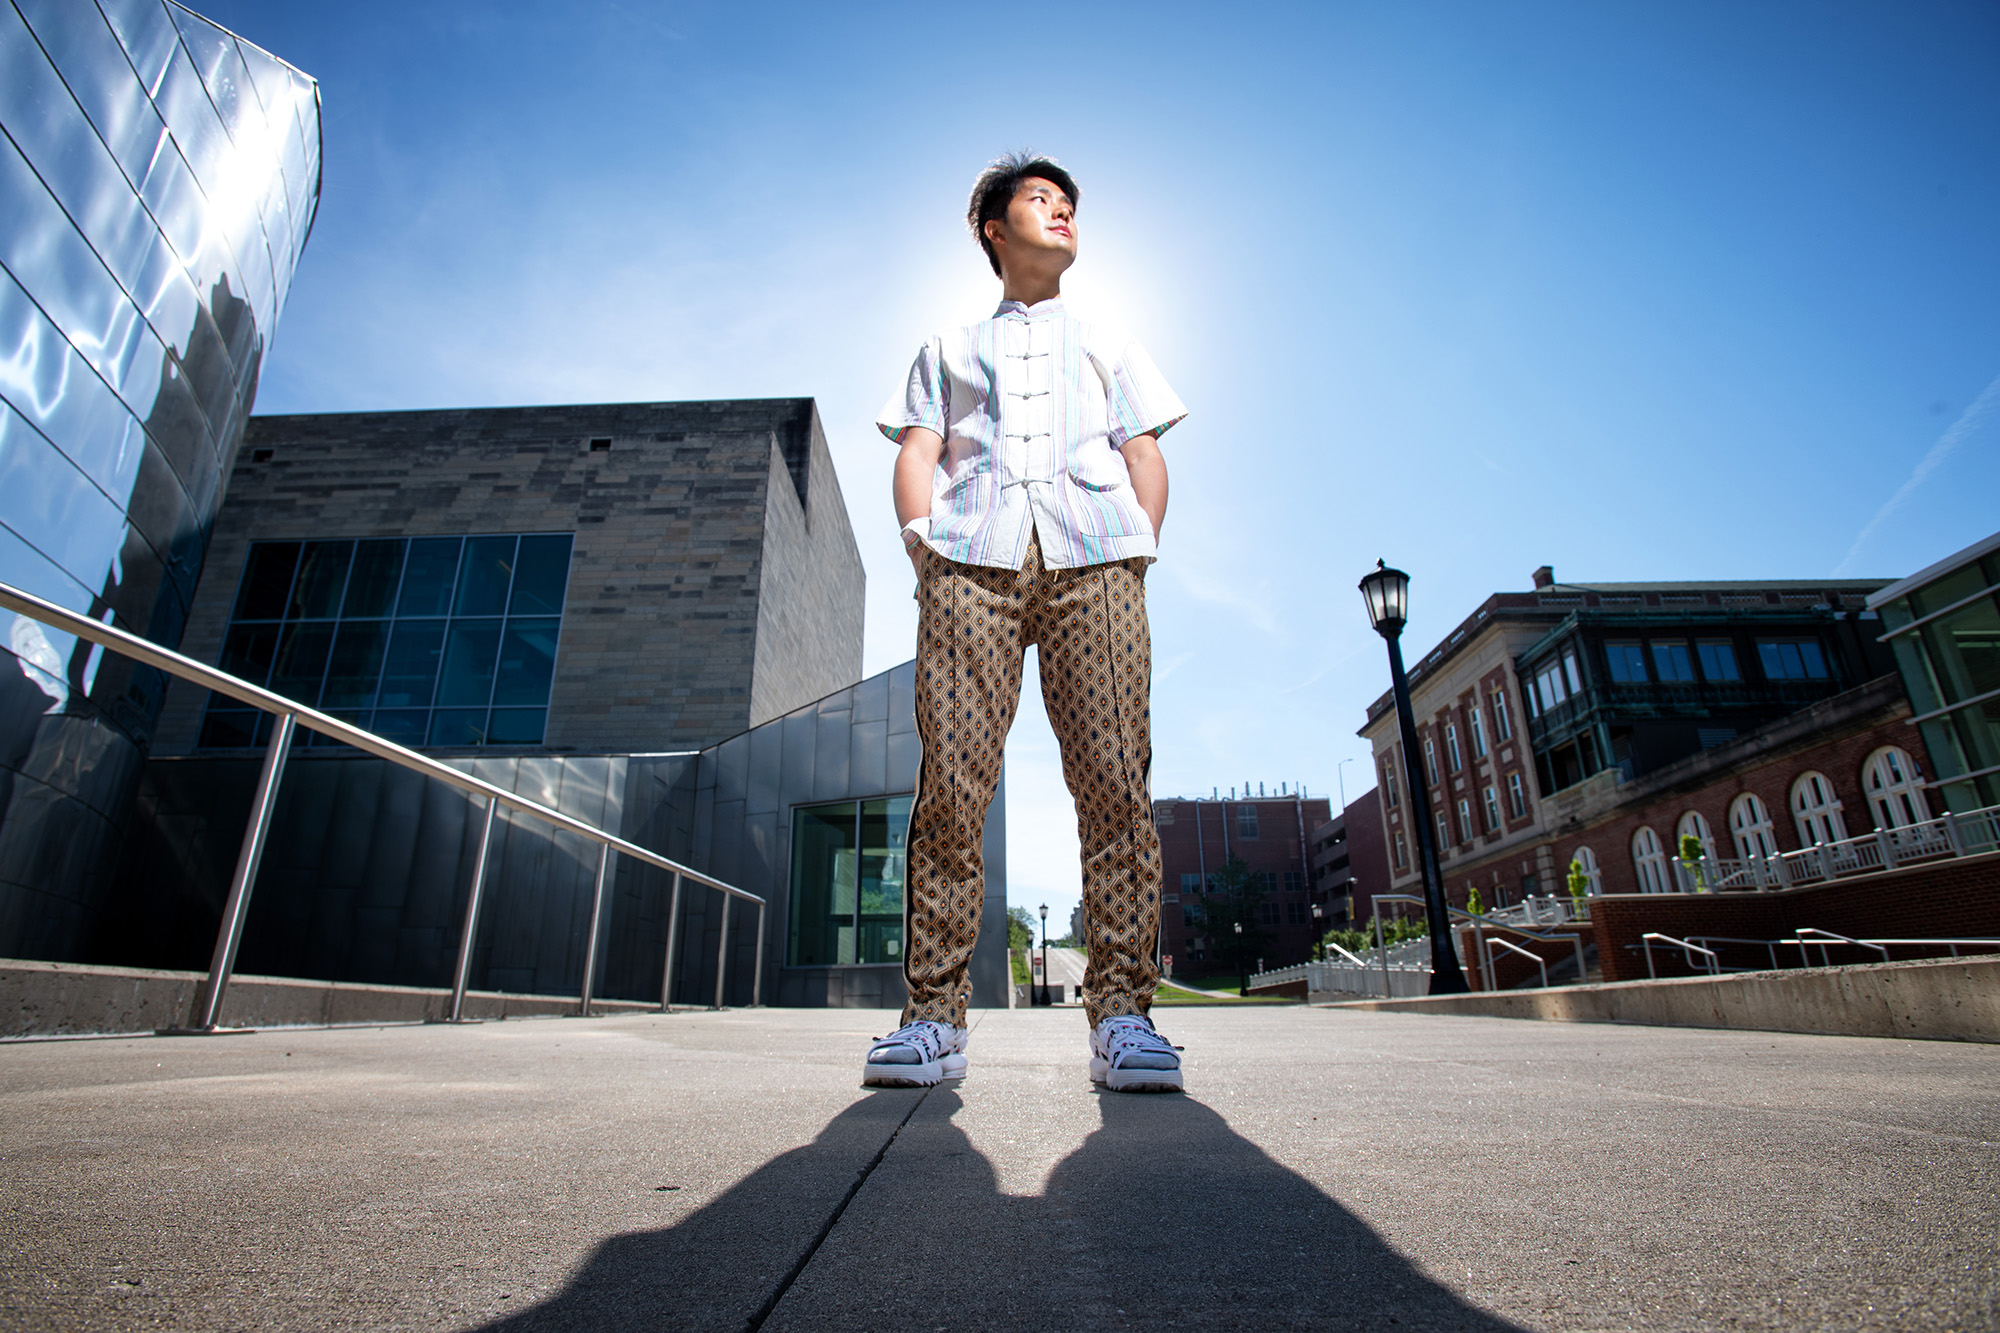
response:
M746 1327L874 1157L864 1141L916 1097L854 1103L812 1145L674 1227L604 1241L566 1289L486 1327ZM764 1329L1518 1329L1188 1097L1098 1095L1102 1125L1040 1197L1000 1193L958 1109L928 1093Z

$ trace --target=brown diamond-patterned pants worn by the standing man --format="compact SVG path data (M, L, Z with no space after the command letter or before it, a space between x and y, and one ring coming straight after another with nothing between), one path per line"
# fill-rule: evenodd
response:
M910 811L902 1021L966 1023L966 965L980 933L980 837L1020 703L1022 654L1042 650L1042 703L1076 799L1084 859L1092 1025L1146 1013L1160 981L1160 835L1152 767L1152 634L1144 560L1018 570L924 548L918 574L916 729L924 759Z

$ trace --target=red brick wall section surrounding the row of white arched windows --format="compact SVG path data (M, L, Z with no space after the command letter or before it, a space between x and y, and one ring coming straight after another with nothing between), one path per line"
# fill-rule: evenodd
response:
M1646 825L1660 839L1660 849L1668 857L1676 851L1676 827L1686 811L1700 811L1708 819L1718 857L1736 857L1736 843L1730 837L1730 805L1742 793L1756 793L1770 815L1778 851L1798 851L1798 825L1792 821L1792 783L1810 771L1824 773L1840 799L1840 817L1848 837L1862 837L1876 827L1874 811L1868 805L1862 769L1868 757L1884 745L1900 745L1918 763L1924 745L1916 727L1908 719L1886 721L1866 731L1794 751L1768 765L1744 773L1732 773L1716 783L1694 791L1660 797L1642 807L1620 811L1616 819L1596 825L1580 835L1558 837L1556 875L1568 871L1578 847L1596 853L1602 875L1602 893L1638 893L1638 869L1632 861L1632 837ZM1932 799L1932 817L1942 815L1942 805ZM1560 885L1550 885L1546 893L1560 893Z

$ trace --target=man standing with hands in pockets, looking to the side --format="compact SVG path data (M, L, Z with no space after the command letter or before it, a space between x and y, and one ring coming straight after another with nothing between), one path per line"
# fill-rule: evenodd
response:
M1152 827L1152 636L1146 566L1166 518L1158 438L1186 408L1136 342L1062 308L1076 262L1076 182L1012 154L966 220L1000 276L992 318L930 338L876 422L902 446L896 520L916 566L916 729L902 1027L864 1083L930 1085L966 1069L966 965L986 875L980 835L1040 644L1042 701L1076 799L1090 965L1090 1077L1182 1087L1146 1011L1158 971Z

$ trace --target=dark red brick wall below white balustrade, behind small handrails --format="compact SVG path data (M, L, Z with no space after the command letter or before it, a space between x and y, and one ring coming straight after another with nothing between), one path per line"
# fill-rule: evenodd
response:
M1648 931L1688 939L1724 935L1770 941L1800 927L1854 939L1936 939L2000 935L2000 853L1934 861L1930 865L1858 875L1812 889L1782 893L1644 893L1594 899L1590 919L1598 939L1604 981L1644 981L1646 955L1638 949ZM1724 967L1770 967L1762 945L1710 945ZM1812 951L1818 963L1820 951ZM1932 957L1932 951L1898 949L1892 957ZM1828 951L1834 963L1872 963L1880 955L1852 947ZM1674 947L1654 945L1660 977L1686 977ZM1526 959L1522 959L1526 963ZM1798 967L1798 947L1778 949L1780 967Z

